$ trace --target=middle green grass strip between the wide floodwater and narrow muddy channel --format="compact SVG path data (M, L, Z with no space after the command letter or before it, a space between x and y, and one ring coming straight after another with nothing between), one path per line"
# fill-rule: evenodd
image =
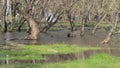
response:
M45 54L69 54L86 50L97 50L95 47L78 47L76 45L53 44L53 45L21 45L5 46L0 50L0 60L42 60Z

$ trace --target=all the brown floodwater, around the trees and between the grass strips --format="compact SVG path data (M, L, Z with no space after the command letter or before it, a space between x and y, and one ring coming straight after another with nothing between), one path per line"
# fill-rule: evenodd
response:
M111 54L113 56L120 57L120 49L112 49L120 47L120 35L115 34L109 44L100 44L100 42L105 38L108 32L104 29L98 29L95 35L91 35L91 29L86 29L85 35L80 36L80 30L75 32L74 37L67 37L69 30L60 31L48 31L47 33L40 33L39 40L22 40L27 33L26 32L7 32L0 33L0 45L8 45L11 42L17 42L20 44L54 44L54 43L65 43L65 44L75 44L78 46L91 46L91 47L103 47L102 50L88 50L75 54L57 54L57 55L43 55L47 58L46 60L11 60L10 63L48 63L48 62L60 62L65 60L75 60L75 59L86 59L90 56L98 53ZM5 61L0 61L0 63L5 63Z

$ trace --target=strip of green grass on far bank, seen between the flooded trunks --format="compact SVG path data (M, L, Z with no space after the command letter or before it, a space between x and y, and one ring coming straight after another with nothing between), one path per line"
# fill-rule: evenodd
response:
M16 22L14 25L15 25L14 30L16 30L17 27L20 25L20 23ZM69 23L69 22L58 22L58 23L56 23L53 27L51 27L49 30L50 30L50 31L58 31L58 30L63 29L63 28L59 28L59 27L58 27L58 26L60 26L60 25L65 26L65 28L67 28L68 26L70 27L70 23ZM88 23L86 24L86 27L94 27L95 25L96 25L96 22L88 22ZM81 24L80 22L75 22L75 26L82 27L82 24ZM102 23L102 24L100 24L100 25L98 25L98 26L102 28L102 27L109 27L109 26L111 26L111 25L108 24L108 23ZM42 26L42 27L43 27L43 26ZM118 27L120 27L120 26L118 26ZM0 28L2 28L1 25L0 25ZM1 30L1 29L0 29L0 30ZM8 27L8 30L9 30L9 27ZM27 25L24 24L24 25L22 26L22 31L26 31L26 30L27 30Z

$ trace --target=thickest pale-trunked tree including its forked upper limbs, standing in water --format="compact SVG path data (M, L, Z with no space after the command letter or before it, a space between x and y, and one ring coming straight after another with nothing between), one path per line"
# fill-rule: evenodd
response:
M23 18L28 22L28 26L30 28L29 31L30 33L25 39L37 40L39 36L39 26L38 26L39 22L37 22L34 19L33 15L31 15L31 11L33 10L33 6L35 2L36 2L35 0L30 0L28 5L28 0L26 0L26 4L28 5L28 7L27 5L23 7L23 5L20 2L16 2L18 13L22 15Z

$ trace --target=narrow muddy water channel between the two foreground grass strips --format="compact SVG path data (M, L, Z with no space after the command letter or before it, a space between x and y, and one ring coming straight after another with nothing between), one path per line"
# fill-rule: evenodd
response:
M65 60L77 60L77 59L87 59L95 54L109 54L112 56L120 57L119 53L120 49L100 49L100 50L88 50L88 51L82 51L79 53L73 53L73 54L59 54L59 55L43 55L46 57L46 60L37 61L36 63L48 63L48 62L60 62Z

